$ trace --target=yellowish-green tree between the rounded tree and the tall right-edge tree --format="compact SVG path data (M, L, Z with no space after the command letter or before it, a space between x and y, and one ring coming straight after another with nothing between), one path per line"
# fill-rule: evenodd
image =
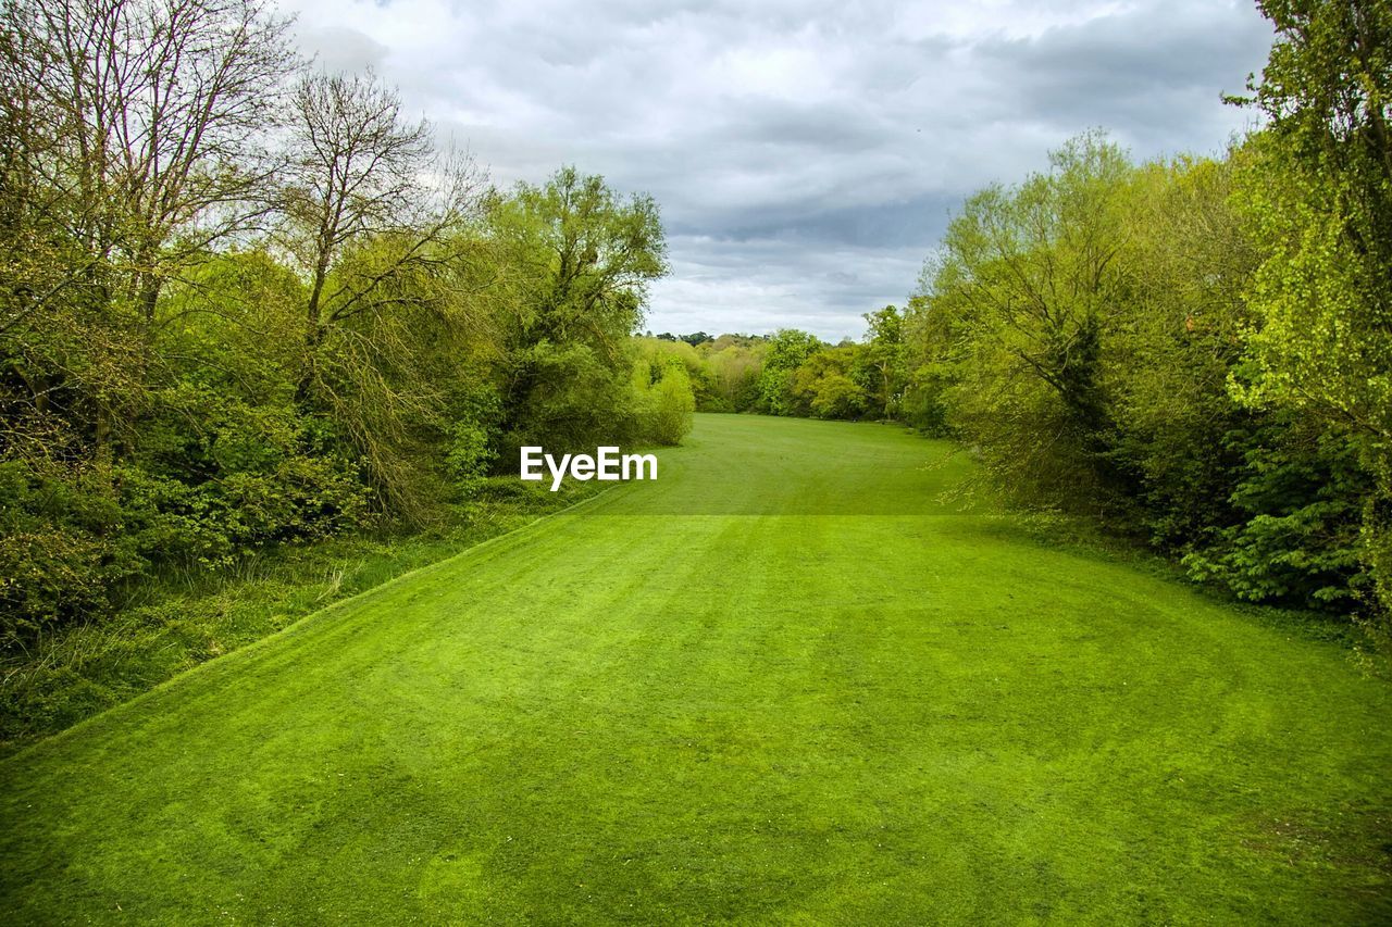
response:
M1260 416L1228 381L1251 323L1243 294L1257 263L1232 209L1231 161L1139 168L1128 193L1129 292L1104 369L1108 457L1136 502L1134 528L1169 551L1242 521L1231 497L1260 443Z

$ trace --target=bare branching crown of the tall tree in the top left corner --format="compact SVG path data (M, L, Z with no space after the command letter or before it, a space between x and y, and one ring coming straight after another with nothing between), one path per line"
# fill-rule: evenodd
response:
M67 231L116 262L146 322L191 256L264 214L287 19L258 0L49 0L6 7L22 47L32 168Z

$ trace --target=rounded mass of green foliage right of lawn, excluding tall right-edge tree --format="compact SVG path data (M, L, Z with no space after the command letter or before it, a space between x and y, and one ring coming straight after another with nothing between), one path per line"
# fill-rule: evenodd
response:
M1132 166L1087 135L973 196L910 301L905 418L1018 504L1100 518L1242 599L1347 614L1379 582L1375 469L1347 416L1271 401L1282 249L1249 207L1267 143Z

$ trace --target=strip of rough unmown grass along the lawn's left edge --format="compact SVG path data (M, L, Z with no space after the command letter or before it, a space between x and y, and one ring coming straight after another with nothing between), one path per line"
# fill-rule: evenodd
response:
M568 483L548 493L515 477L493 477L429 530L284 544L230 569L167 569L134 589L114 615L64 628L0 657L0 757L596 489Z

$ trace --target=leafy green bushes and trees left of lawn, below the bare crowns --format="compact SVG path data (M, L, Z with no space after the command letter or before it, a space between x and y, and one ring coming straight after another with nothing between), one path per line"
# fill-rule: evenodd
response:
M491 221L398 214L322 255L322 277L270 244L185 260L149 327L72 287L46 330L0 331L0 646L110 621L163 571L437 522L523 441L689 429L688 380L629 381L650 199L561 171Z

